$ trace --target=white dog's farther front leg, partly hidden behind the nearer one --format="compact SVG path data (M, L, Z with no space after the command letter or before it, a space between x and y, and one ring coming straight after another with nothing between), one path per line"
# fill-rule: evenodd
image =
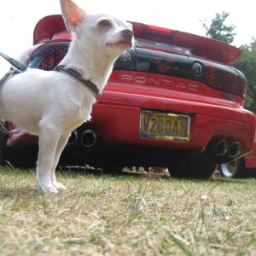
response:
M56 189L61 189L61 190L67 189L63 184L58 183L56 181L55 168L58 165L58 162L60 160L61 153L62 153L63 149L67 145L67 141L68 141L68 138L70 137L70 134L71 133L68 132L66 134L62 134L61 135L60 140L59 140L59 142L57 144L56 151L55 151L55 160L54 160L54 164L53 164L53 167L52 167L52 170L51 170L50 177L51 177L51 183L55 186Z

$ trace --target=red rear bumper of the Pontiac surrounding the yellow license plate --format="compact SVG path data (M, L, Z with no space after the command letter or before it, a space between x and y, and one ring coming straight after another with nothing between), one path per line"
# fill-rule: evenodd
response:
M189 115L189 142L140 137L142 109ZM104 90L97 98L91 121L84 123L79 130L88 128L96 131L98 143L101 145L131 145L203 152L213 141L228 140L230 143L241 143L241 154L245 154L253 148L255 117L244 108L220 106L218 103L200 101L195 96L189 100L188 96L182 99L181 96L170 98L134 91L123 91L120 94L116 90ZM24 132L9 137L8 141L10 147L24 147L34 143L35 137ZM82 144L80 146L83 147Z

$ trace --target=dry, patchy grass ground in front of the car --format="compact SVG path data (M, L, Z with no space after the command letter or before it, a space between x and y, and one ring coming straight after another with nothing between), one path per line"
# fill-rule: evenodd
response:
M0 169L0 255L255 255L256 183Z

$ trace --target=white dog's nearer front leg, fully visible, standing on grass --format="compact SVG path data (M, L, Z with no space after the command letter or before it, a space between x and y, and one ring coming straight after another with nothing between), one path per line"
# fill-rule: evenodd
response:
M45 194L58 192L52 184L50 176L60 133L59 129L49 121L40 121L37 166L38 190Z

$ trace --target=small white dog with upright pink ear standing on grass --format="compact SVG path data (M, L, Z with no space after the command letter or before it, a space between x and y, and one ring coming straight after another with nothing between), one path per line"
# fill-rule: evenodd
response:
M61 10L67 29L73 32L60 63L66 69L28 69L0 90L0 119L38 136L38 189L47 194L66 189L56 181L55 167L71 132L90 120L96 102L95 93L67 74L67 69L96 84L101 92L114 61L134 42L130 23L108 15L87 15L71 0L61 0Z

